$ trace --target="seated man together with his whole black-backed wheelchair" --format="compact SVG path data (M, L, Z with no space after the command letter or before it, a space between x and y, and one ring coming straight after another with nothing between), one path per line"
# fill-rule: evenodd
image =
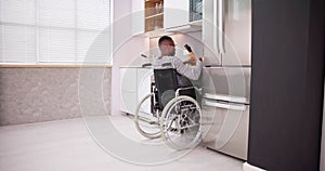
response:
M192 58L187 65L174 56L170 37L161 37L158 44L161 56L153 64L153 91L136 107L135 128L145 137L162 137L174 149L191 148L202 136L200 106L192 83L200 76L202 62Z

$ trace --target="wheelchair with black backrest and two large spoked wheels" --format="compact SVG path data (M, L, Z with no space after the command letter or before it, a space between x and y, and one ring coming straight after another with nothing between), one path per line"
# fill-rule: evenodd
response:
M135 110L138 131L147 139L162 137L168 146L178 150L198 145L202 110L195 98L199 89L174 68L154 69L151 88Z

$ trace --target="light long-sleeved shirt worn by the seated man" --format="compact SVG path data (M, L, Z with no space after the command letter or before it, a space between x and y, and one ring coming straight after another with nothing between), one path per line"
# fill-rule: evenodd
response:
M171 66L162 66L162 64L168 64L168 63L170 63ZM154 61L153 67L154 69L176 68L180 75L185 76L191 80L197 80L202 71L202 62L197 61L195 66L191 66L184 64L177 56L162 56Z

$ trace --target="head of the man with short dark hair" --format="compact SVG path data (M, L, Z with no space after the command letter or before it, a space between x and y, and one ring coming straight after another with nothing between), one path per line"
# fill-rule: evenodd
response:
M169 36L162 36L158 41L161 56L173 56L176 54L174 42Z

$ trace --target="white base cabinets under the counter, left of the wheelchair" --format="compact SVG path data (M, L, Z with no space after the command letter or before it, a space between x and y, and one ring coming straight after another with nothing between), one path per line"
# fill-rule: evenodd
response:
M134 115L140 101L151 92L153 70L141 67L120 67L120 110Z

